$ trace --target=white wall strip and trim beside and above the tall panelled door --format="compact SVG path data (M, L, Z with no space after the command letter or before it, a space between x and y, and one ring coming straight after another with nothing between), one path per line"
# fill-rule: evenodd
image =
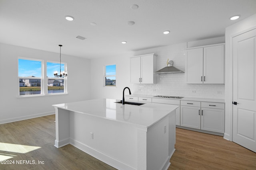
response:
M235 23L226 28L225 37L226 37L226 61L225 61L225 77L226 77L226 85L225 85L225 133L224 138L232 141L232 115L233 115L233 57L232 57L232 47L233 37L251 29L256 28L256 14Z

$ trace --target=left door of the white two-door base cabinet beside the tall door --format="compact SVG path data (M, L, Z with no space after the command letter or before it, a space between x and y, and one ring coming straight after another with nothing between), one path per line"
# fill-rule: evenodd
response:
M180 126L200 129L200 107L180 106Z

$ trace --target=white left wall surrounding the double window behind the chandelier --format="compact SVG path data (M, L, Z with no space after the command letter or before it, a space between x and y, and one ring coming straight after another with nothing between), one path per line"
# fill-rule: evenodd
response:
M59 62L59 56L59 53L0 44L0 124L53 114L52 104L90 99L90 60L64 54L62 62L67 63L69 73L68 94L18 98L18 57Z

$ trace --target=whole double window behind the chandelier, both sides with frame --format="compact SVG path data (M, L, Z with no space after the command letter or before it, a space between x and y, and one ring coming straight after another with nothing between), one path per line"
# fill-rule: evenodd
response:
M45 64L46 74L44 74ZM42 96L66 93L66 77L55 77L54 72L56 70L60 70L60 63L44 63L43 60L19 58L18 96ZM66 70L66 63L61 64L61 70Z

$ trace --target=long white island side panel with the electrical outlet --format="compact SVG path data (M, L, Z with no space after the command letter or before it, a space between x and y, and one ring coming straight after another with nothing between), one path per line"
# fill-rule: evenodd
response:
M137 169L135 125L70 111L70 144L114 168Z

